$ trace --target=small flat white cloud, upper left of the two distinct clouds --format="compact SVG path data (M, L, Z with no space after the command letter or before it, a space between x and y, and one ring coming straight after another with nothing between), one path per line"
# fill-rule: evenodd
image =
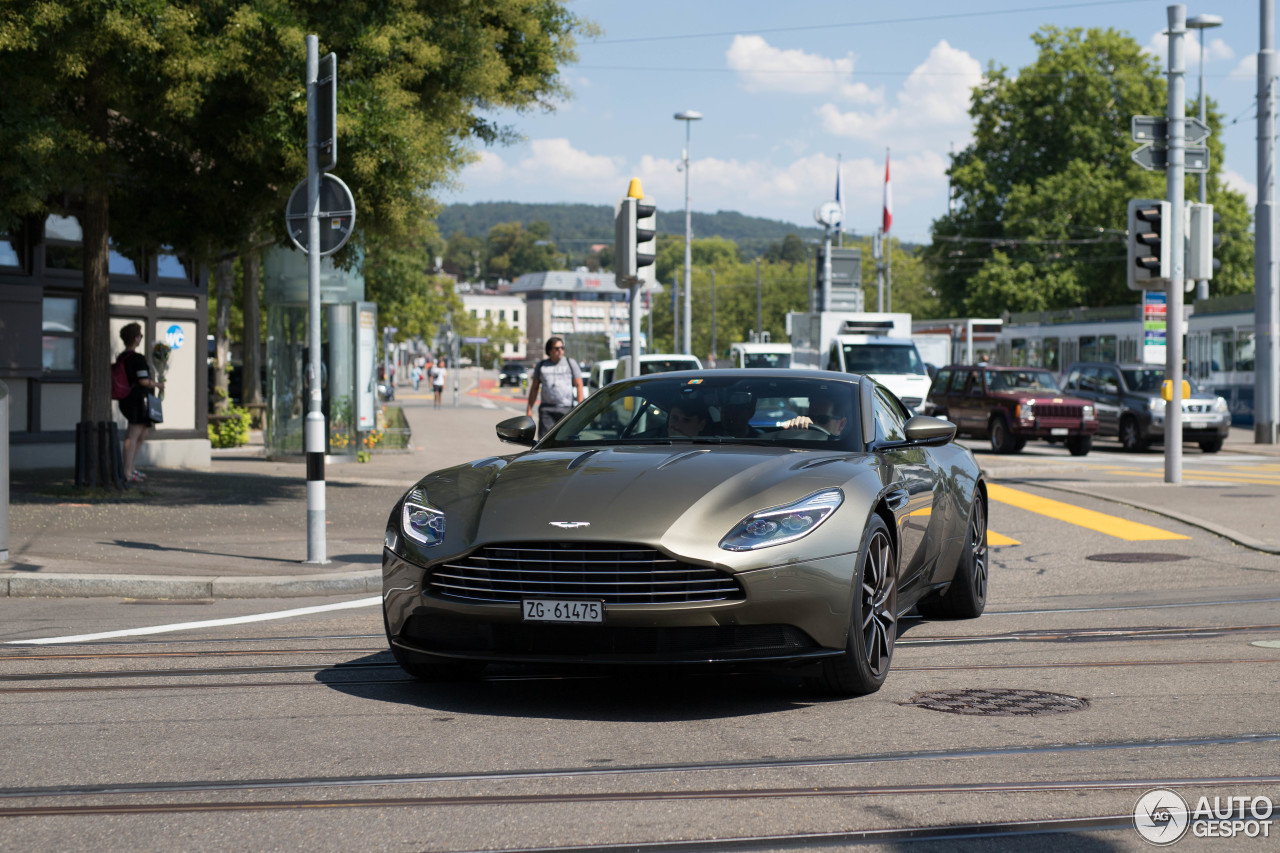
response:
M760 36L735 36L724 59L749 92L833 95L855 104L879 104L884 97L883 90L852 81L851 53L842 59L828 59L773 47Z

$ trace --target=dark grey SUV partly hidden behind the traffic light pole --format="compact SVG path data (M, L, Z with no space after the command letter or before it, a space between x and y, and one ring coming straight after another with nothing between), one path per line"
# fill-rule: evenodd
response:
M1126 451L1140 452L1165 441L1166 403L1160 393L1165 369L1142 364L1078 361L1062 374L1064 387L1098 411L1098 434L1116 435ZM1206 453L1222 450L1231 432L1226 400L1189 384L1183 400L1183 441Z

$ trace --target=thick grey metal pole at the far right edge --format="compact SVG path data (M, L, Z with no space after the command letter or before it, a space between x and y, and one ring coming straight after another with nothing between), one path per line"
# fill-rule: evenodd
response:
M1253 442L1277 442L1280 405L1280 287L1276 282L1276 53L1275 0L1260 0L1258 205L1253 227Z

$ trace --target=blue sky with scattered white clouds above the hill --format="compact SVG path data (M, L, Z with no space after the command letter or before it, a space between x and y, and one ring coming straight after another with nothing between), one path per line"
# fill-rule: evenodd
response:
M1266 0L1274 1L1274 0ZM844 175L845 231L881 224L890 156L893 222L928 242L947 207L948 155L972 141L969 91L991 63L1036 59L1046 24L1114 28L1167 67L1167 3L914 0L570 0L596 24L562 69L553 111L494 113L522 141L480 149L440 201L613 204L640 178L662 210L684 210L689 133L695 211L814 224ZM1256 201L1260 0L1188 5L1203 31L1204 87L1228 127L1224 178ZM1187 95L1199 91L1199 32L1187 38ZM695 110L696 122L675 119ZM1137 145L1134 146L1137 147ZM602 237L608 237L603 234ZM695 234L695 238L698 234Z

